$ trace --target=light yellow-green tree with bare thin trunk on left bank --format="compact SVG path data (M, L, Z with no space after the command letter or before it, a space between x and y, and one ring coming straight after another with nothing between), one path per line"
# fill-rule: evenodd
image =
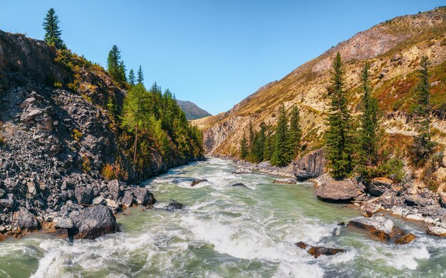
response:
M133 141L134 161L136 161L137 154L138 132L140 126L144 124L145 117L147 117L148 100L149 95L144 86L138 84L130 88L123 104L122 126L135 133L135 140Z

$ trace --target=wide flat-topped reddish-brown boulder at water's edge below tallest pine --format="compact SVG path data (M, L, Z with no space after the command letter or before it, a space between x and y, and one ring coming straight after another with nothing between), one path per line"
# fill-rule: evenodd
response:
M316 190L316 195L323 201L345 202L360 196L361 192L350 180L326 181Z

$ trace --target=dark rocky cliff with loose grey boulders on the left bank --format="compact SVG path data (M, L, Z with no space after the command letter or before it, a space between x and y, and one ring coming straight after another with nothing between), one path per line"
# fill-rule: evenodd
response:
M110 99L122 107L125 87L100 66L67 55L0 31L0 238L41 227L88 238L116 231L110 209L155 202L131 183L193 159L166 161L153 150L151 166L135 171L106 109ZM117 159L127 182L102 177ZM106 209L84 208L90 205ZM87 220L94 225L84 226Z

